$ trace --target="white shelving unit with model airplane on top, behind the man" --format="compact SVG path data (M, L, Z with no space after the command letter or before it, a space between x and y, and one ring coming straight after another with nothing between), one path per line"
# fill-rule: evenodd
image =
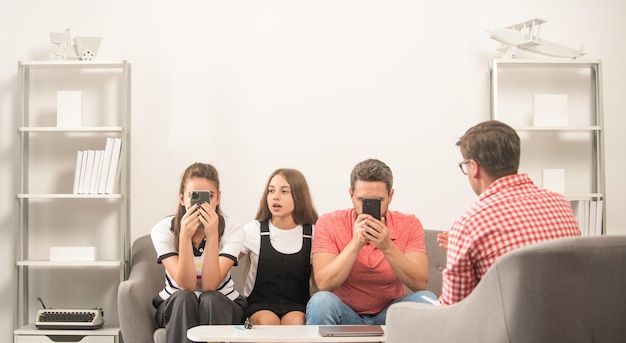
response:
M567 98L562 123L534 125L536 94ZM491 62L491 119L517 130L522 140L520 172L529 174L536 184L542 185L544 169L564 171L564 195L579 215L584 235L604 233L606 222L602 108L599 60ZM589 204L592 213L583 218L582 207Z

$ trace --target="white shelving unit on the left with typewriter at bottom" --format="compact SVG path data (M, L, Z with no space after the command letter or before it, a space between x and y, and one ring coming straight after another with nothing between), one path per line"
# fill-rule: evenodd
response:
M130 95L127 61L18 63L18 226L14 342L119 341L117 287L129 263ZM81 92L81 126L57 127L57 91ZM110 194L74 194L79 150L122 141ZM51 261L51 247L95 247L94 261ZM102 308L105 327L39 330L49 308Z

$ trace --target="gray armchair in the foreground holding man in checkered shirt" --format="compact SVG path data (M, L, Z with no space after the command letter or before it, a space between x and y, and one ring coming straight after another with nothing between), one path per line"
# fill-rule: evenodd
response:
M387 342L626 342L626 236L510 252L451 306L401 303Z

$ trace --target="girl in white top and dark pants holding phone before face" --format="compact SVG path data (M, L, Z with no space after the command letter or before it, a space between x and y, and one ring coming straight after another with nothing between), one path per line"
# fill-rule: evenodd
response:
M192 191L207 191L209 201L192 205ZM176 214L152 229L165 267L165 287L153 305L169 343L191 342L187 330L197 325L238 324L246 306L230 278L245 234L222 214L220 196L217 170L194 163L183 173Z

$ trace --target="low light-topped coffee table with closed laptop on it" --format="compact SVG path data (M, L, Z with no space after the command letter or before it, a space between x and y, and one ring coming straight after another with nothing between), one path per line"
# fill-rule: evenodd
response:
M382 325L383 329L385 326ZM385 342L383 336L322 337L318 325L200 325L187 331L196 342Z

